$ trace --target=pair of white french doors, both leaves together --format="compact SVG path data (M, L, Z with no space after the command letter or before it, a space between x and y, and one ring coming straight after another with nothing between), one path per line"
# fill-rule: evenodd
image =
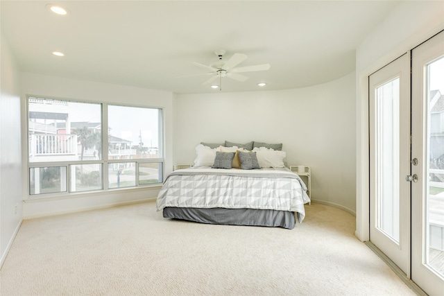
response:
M370 241L444 295L444 31L369 76Z

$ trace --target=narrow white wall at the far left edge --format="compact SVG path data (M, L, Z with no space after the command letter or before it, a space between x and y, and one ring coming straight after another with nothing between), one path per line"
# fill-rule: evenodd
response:
M19 71L1 34L0 267L22 222L22 154ZM17 212L16 212L17 206Z

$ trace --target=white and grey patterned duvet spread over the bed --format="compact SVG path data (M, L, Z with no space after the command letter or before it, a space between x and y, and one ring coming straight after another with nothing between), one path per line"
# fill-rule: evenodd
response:
M164 207L275 209L296 211L301 223L307 187L300 177L283 170L187 168L173 171L157 195Z

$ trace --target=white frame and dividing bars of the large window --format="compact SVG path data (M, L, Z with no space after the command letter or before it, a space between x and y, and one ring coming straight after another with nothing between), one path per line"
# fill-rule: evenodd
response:
M29 157L29 149L30 149L30 134L29 134L29 98L40 98L47 100L55 100L55 101L67 101L72 103L91 103L91 104L100 104L101 105L101 140L102 140L102 153L101 159L94 160L66 160L66 161L56 161L56 162L30 162ZM138 107L144 109L153 109L157 110L158 113L158 134L159 134L159 157L156 158L134 158L134 159L109 159L108 155L108 106L121 106L121 107ZM110 103L104 101L85 101L79 99L71 99L71 98L58 98L51 96L35 96L35 95L26 95L25 101L25 115L26 115L26 124L25 124L25 133L26 133L26 187L27 187L27 195L28 200L37 200L42 198L54 198L54 197L64 197L69 198L75 195L87 195L91 193L103 193L106 191L130 191L137 189L146 189L162 186L164 180L164 166L165 166L165 150L164 150L164 108L157 106L146 106L146 105L135 105L135 104L122 104L122 103ZM135 163L135 186L125 186L111 189L108 186L108 166L109 164L118 164L118 163L127 163L134 162ZM140 184L139 182L139 164L158 164L159 166L159 182L151 183L151 184ZM101 184L102 189L93 189L87 191L70 191L71 190L71 166L73 165L81 165L81 164L99 164L101 166L102 176L101 176ZM43 167L53 167L53 166L65 166L66 167L66 191L58 191L53 193L38 193L31 194L31 168L43 168Z

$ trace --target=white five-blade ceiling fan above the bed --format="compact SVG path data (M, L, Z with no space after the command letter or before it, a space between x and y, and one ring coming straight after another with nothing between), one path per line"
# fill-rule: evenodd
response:
M246 58L248 58L247 55L244 55L244 53L234 53L234 55L232 55L232 57L229 60L224 60L223 55L225 55L226 53L225 50L219 49L218 51L214 51L214 53L216 53L219 60L213 62L212 64L210 64L210 66L194 62L196 66L206 70L210 70L210 72L189 75L189 76L212 75L212 77L203 82L202 85L209 85L211 82L219 78L219 90L222 90L222 78L228 77L240 82L244 82L248 80L248 76L239 73L266 71L270 69L270 64L256 64L253 66L236 68L238 64L240 64L241 62L246 60ZM180 77L185 77L185 76L180 76Z

